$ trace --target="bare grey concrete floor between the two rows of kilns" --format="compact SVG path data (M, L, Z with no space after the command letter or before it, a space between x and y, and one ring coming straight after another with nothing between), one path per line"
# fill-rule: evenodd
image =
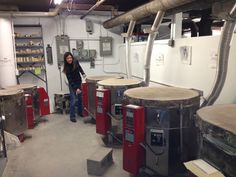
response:
M8 150L2 177L87 177L86 159L103 146L95 125L69 121L67 115L51 114L48 122L26 132L21 146ZM114 164L104 177L128 177L122 169L122 149L113 149Z

